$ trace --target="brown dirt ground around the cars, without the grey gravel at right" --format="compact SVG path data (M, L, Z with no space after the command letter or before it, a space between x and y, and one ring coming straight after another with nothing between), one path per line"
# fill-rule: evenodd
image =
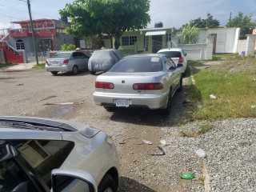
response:
M175 175L177 181L170 188L172 181L167 175L171 173L158 169L162 165L161 157L154 164L147 161L162 154L158 148L161 140L180 137L177 127L190 119L188 78L183 79L182 92L174 95L172 114L163 116L152 110L110 113L96 106L92 97L96 77L89 72L52 76L44 70L0 70L0 115L63 118L106 131L114 138L120 155L119 191L191 191L191 185L200 185ZM153 144L147 145L143 139ZM180 169L181 172L183 168Z

